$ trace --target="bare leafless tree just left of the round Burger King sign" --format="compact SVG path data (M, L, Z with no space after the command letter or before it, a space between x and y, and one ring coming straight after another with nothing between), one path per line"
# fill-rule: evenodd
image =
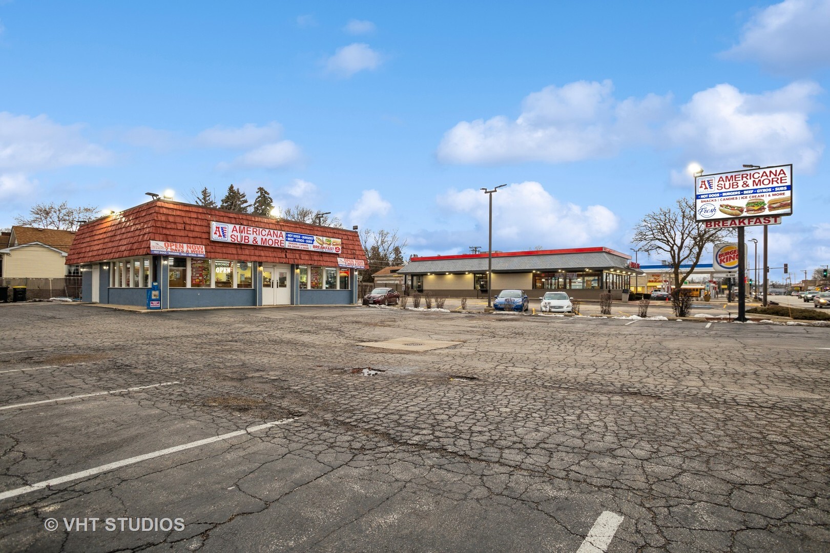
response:
M706 247L730 234L729 229L707 229L695 221L695 204L689 198L677 200L676 208L662 207L642 218L634 227L632 242L649 254L662 252L671 264L674 295L680 295L681 284L691 275ZM681 274L681 264L690 264Z

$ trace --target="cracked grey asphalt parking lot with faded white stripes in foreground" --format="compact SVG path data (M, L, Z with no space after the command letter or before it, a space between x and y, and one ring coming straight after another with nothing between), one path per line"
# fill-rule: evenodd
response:
M0 318L0 551L830 549L828 327Z

